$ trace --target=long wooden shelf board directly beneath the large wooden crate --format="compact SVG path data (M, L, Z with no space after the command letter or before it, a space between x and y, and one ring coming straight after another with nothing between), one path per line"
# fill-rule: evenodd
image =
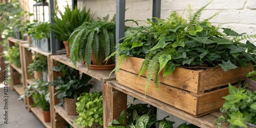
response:
M188 113L185 113L184 111L181 111L179 109L176 109L174 108L173 106L170 106L164 102L161 102L157 99L154 99L154 98L151 98L151 97L146 97L145 99L145 95L142 94L142 93L139 93L133 89L130 89L130 88L127 88L125 86L123 86L122 84L119 84L117 83L115 80L114 81L108 81L106 82L106 84L108 84L110 87L118 90L118 91L121 91L127 95L130 95L130 96L133 96L137 99L140 99L144 102L147 102L169 114L172 114L180 119L183 119L185 121L188 121L190 123L193 123L199 127L217 127L214 125L214 121L215 119L218 118L218 116L221 115L220 112L213 112L213 113L210 113L208 115L205 115L205 116L202 116L202 117L193 117L191 116L190 114ZM160 91L160 90L159 90ZM170 99L172 100L172 99ZM227 123L222 123L222 126L221 127L229 127Z

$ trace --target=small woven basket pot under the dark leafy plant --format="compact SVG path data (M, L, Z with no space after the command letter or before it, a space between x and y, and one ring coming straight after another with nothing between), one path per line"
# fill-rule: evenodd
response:
M64 98L65 100L65 109L66 109L66 113L68 115L78 115L78 113L76 113L76 99L71 99L71 98Z

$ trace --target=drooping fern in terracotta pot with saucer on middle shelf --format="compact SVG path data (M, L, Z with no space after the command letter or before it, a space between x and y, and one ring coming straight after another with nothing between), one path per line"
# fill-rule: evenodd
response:
M113 69L113 60L103 61L115 51L115 24L95 20L83 23L70 35L70 50L75 66L76 61L86 61L88 70Z

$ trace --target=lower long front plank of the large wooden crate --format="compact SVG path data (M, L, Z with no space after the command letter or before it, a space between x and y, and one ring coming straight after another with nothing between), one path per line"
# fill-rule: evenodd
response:
M117 73L117 81L123 86L134 89L142 94L145 93L146 78L143 76L138 77L137 74L126 72L120 69ZM178 88L174 88L172 86L168 86L163 83L160 83L159 90L156 90L154 84L155 83L152 80L150 86L148 86L146 90L146 98L150 96L152 98L158 99L159 101L173 105L175 108L197 116L197 95Z

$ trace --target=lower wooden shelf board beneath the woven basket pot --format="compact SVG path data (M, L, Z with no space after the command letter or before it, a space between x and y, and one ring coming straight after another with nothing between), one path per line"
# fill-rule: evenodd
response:
M55 105L54 108L55 108L55 111L56 111L63 119L65 119L72 127L77 127L77 126L76 126L76 123L75 123L75 119L77 118L77 116L68 115L68 114L66 113L66 110L64 109L63 106Z

